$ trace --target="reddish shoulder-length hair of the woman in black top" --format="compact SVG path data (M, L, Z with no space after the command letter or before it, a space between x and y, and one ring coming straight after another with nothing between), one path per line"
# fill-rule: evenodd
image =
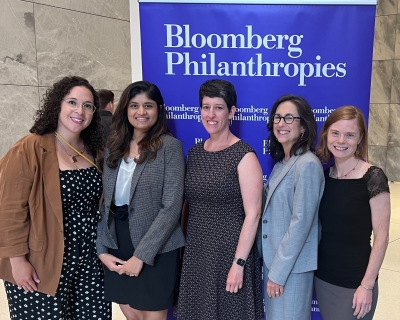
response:
M368 161L368 131L367 125L365 123L364 114L360 109L354 106L342 106L334 110L329 117L326 119L321 133L320 142L318 146L317 156L324 163L333 157L332 153L328 150L328 133L329 128L332 124L338 122L339 120L355 120L360 130L361 141L357 145L356 152L354 156L357 159L365 159Z

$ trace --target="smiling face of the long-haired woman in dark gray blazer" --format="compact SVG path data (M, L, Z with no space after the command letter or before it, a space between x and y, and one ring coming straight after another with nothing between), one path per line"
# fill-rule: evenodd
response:
M158 107L154 100L145 93L134 96L128 104L128 121L136 133L146 133L155 125L158 118Z

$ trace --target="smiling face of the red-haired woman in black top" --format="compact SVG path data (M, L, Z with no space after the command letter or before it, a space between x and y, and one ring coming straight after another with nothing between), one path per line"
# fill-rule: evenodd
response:
M348 159L354 157L361 139L360 128L355 119L339 120L328 129L328 150L336 159Z

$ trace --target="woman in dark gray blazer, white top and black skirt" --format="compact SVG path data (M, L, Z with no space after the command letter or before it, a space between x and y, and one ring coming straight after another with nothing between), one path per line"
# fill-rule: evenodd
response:
M132 83L107 142L97 238L105 298L127 319L165 320L175 303L184 175L182 144L168 133L159 89Z

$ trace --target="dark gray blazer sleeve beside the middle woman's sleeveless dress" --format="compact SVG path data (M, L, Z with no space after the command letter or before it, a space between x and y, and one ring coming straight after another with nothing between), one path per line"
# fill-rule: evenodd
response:
M185 162L182 144L173 139L165 144L163 151L165 176L161 208L134 252L134 256L149 265L154 264L155 256L175 231L183 204Z

